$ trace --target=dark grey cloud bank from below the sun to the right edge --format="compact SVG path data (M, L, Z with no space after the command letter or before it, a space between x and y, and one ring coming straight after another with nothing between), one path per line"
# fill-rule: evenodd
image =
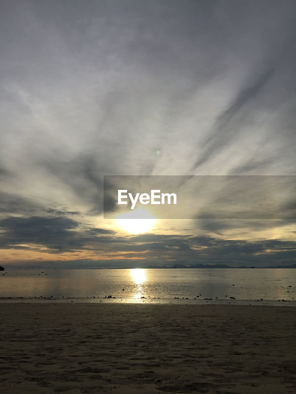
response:
M117 251L145 252L143 257L163 264L170 258L187 264L225 261L232 266L266 266L269 259L294 258L295 241L223 240L207 236L142 235L131 237L115 247ZM150 260L151 261L151 260ZM244 264L242 264L244 263ZM226 264L226 263L225 263Z

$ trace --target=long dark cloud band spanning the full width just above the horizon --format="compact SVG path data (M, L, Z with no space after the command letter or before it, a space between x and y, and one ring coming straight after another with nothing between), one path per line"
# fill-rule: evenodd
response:
M56 256L63 253L82 256L86 251L93 253L92 260L101 256L103 266L108 260L126 261L124 266L133 266L135 258L141 265L183 261L187 264L225 262L234 266L266 266L267 261L292 259L296 242L283 240L224 240L210 236L176 234L141 234L122 237L112 230L86 225L65 216L57 217L9 217L0 221L2 249L34 250ZM83 261L81 260L81 268ZM105 261L105 263L104 263ZM243 264L244 263L244 264ZM77 264L77 263L75 263ZM146 265L147 265L146 264ZM60 263L63 266L63 263Z

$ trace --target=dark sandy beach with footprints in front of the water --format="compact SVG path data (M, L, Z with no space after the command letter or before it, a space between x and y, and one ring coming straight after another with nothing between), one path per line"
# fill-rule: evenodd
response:
M5 394L296 392L293 307L2 303L0 310Z

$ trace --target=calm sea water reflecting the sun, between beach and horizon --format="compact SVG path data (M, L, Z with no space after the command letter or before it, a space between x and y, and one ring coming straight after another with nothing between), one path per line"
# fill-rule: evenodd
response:
M296 269L44 269L43 273L41 270L0 273L0 297L26 302L40 302L42 296L52 297L49 302L71 302L74 297L74 302L258 303L259 300L268 304L279 300L283 303L284 299L290 301L286 305L292 305L295 290ZM110 295L116 299L104 298Z

